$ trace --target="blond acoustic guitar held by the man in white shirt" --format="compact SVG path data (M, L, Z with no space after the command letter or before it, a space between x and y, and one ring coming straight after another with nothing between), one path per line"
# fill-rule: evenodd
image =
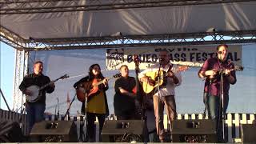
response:
M164 70L160 70L158 73L158 70L156 71L150 71L147 72L145 75L149 77L150 79L154 80L153 85L149 82L142 82L143 90L146 94L150 94L157 86L162 86L166 84L166 77L168 73L170 72L171 67L169 67L168 71L165 72ZM173 73L177 73L178 71L185 71L188 70L188 66L178 66L177 69L172 70ZM160 75L160 79L158 80L158 74Z

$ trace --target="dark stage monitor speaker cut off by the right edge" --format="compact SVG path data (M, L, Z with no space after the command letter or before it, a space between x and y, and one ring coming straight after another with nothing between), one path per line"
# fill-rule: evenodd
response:
M256 124L242 124L242 142L256 143Z

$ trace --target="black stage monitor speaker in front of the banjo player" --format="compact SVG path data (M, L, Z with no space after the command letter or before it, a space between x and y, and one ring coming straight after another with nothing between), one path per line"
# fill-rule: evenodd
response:
M78 142L72 121L42 121L34 124L30 137L37 142Z

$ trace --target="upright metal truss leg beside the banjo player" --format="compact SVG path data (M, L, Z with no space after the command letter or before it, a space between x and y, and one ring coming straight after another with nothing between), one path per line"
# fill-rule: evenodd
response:
M28 74L28 52L25 50L16 50L15 55L15 75L14 75L14 107L13 110L18 112L22 111L23 103L25 102L25 97L23 96L21 90L18 86L22 82L24 75Z

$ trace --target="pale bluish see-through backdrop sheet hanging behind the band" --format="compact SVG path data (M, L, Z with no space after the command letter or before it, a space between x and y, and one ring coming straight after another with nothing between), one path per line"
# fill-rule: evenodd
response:
M230 86L228 112L252 113L255 111L255 46L255 44L242 46L242 66L245 66L245 70L236 73L238 82L234 86ZM98 63L105 77L111 77L118 73L118 70L106 70L106 50L103 49L33 51L30 52L29 60L30 72L32 71L32 63L35 60L42 60L44 62L44 74L48 75L51 80L59 78L63 74L70 75L70 78L56 82L54 92L46 95L46 112L52 114L54 114L55 108L58 111L58 100L60 114L65 114L67 109L67 95L69 95L71 101L75 94L73 88L74 82L77 82L80 78L88 74L91 64ZM177 87L175 95L179 114L202 113L204 110L204 104L202 102L204 81L198 78L198 70L199 68L190 68L182 72L182 85ZM134 70L130 70L130 75L134 76L134 74ZM114 114L114 81L115 79L109 81L110 89L106 91L110 114ZM71 106L70 113L76 114L77 111L80 111L81 106L82 103L76 99Z

